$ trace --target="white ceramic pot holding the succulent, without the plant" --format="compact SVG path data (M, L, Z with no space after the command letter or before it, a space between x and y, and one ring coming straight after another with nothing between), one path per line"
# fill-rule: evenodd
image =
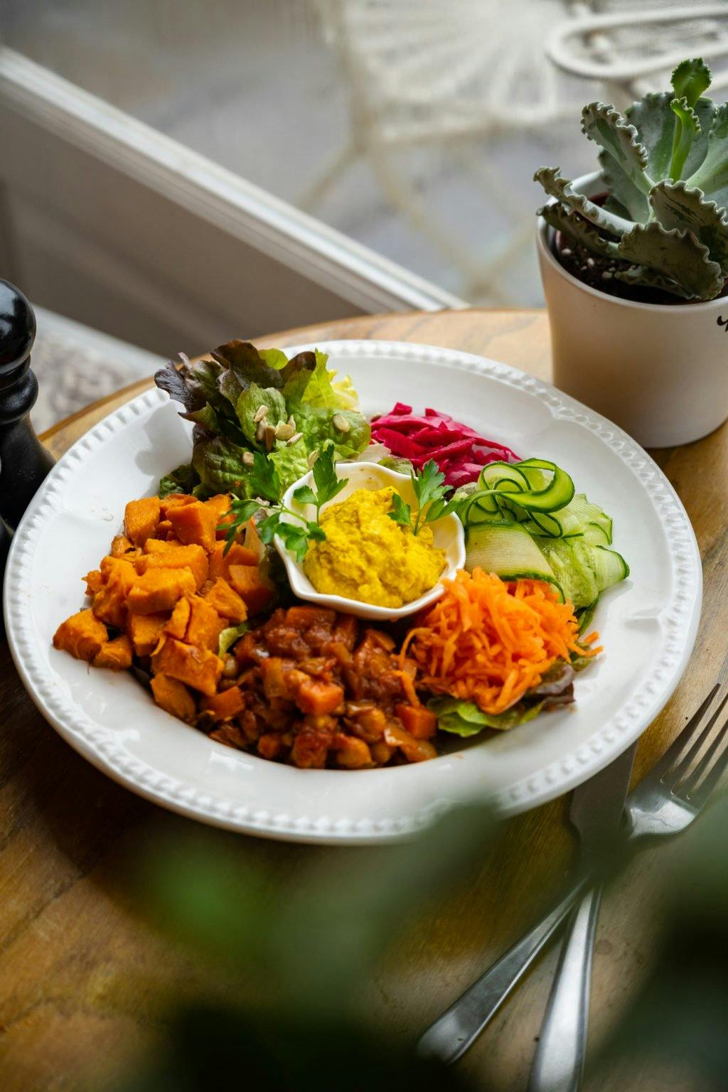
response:
M576 179L594 195L598 174ZM621 425L643 447L690 443L728 417L728 297L637 304L568 273L539 217L538 260L549 311L553 383Z

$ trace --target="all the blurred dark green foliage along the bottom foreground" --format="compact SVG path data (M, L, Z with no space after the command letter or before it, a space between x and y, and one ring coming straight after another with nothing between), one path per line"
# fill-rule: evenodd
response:
M728 799L670 854L665 931L644 988L592 1066L611 1088L625 1058L685 1064L699 1092L728 1087ZM216 969L219 995L166 999L163 1045L123 1092L201 1092L224 1082L261 1092L467 1092L473 1083L387 1031L365 986L407 925L472 881L499 827L486 808L451 811L410 843L367 851L366 864L296 875L281 888L201 833L142 858L145 912L176 943ZM214 846L214 850L213 850ZM605 862L618 875L628 856ZM667 863L666 857L666 863ZM635 914L645 907L635 906ZM371 1001L369 1001L371 1005ZM587 1077L589 1075L587 1073ZM616 1092L623 1085L613 1085ZM119 1085L116 1085L117 1089ZM477 1088L488 1092L488 1075Z

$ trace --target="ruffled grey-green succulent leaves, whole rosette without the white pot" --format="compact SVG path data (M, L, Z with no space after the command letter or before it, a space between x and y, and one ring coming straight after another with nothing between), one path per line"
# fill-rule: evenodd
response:
M589 200L560 169L534 178L556 205L542 214L588 250L623 259L614 276L687 299L713 299L728 277L728 104L703 97L701 58L672 72L673 93L647 94L622 117L590 103L582 130L599 145L606 199ZM613 242L612 240L617 240Z

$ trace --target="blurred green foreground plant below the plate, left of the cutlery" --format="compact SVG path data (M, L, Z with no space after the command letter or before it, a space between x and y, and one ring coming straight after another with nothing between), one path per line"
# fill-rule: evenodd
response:
M329 856L325 874L297 876L290 890L213 835L156 846L144 864L155 923L206 953L226 985L172 1006L164 1052L124 1090L196 1092L226 1080L255 1092L472 1088L414 1057L365 995L385 949L482 867L496 829L485 808L452 811L413 843L362 851L359 864L334 857L332 867Z

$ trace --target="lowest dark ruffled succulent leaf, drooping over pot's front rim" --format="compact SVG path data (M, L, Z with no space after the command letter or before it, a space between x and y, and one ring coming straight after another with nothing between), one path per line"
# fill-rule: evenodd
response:
M668 230L657 221L636 224L621 239L618 251L625 261L646 265L676 281L691 296L713 299L723 287L720 266L690 232Z

